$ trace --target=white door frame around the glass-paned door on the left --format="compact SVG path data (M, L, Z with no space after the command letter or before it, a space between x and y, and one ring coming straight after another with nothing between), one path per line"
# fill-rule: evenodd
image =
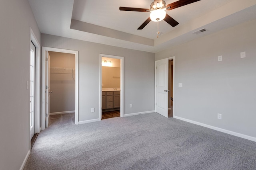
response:
M38 40L36 39L36 35L34 34L32 28L30 27L30 41L36 47L36 61L35 61L35 133L40 133L40 85L41 85L41 46ZM30 44L30 42L29 42ZM30 52L30 45L29 45ZM30 133L30 127L29 127ZM30 141L30 140L29 140ZM30 142L29 142L30 143Z

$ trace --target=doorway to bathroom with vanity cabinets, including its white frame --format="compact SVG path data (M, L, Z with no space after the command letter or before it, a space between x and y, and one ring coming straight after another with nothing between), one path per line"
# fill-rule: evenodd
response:
M123 117L123 57L100 55L100 120Z

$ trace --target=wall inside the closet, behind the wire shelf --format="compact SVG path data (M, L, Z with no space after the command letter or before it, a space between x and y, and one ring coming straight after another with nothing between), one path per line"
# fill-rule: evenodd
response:
M52 51L49 54L50 67L76 68L74 54ZM75 110L75 70L73 71L74 79L70 73L72 70L50 69L50 90L53 91L50 94L50 113Z

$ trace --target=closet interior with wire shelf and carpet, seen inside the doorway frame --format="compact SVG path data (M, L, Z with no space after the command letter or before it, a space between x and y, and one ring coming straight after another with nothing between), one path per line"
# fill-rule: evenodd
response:
M50 61L50 122L75 124L75 55L49 51Z

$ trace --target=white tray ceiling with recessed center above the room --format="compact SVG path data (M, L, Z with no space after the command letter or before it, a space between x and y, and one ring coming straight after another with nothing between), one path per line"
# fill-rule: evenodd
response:
M166 13L176 27L150 21L150 12L119 7L150 8L153 0L28 0L41 33L156 53L168 47L256 19L256 0L200 0ZM165 0L166 4L177 0ZM72 22L71 22L72 21ZM198 35L194 31L205 28Z

